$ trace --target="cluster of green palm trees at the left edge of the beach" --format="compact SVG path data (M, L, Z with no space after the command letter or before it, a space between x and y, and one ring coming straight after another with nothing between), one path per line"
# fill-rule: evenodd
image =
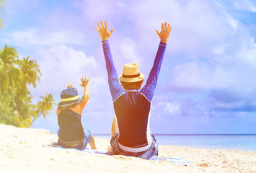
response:
M41 96L43 100L32 104L27 86L35 88L40 76L40 66L35 60L29 56L19 59L16 50L7 45L0 49L0 123L28 128L40 115L46 118L51 113L56 105L53 94Z

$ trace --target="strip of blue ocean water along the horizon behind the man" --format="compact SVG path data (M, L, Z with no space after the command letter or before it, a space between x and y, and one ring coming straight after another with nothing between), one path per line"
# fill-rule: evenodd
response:
M108 138L110 135L95 135ZM169 146L187 146L237 151L256 151L256 135L155 135L157 143Z

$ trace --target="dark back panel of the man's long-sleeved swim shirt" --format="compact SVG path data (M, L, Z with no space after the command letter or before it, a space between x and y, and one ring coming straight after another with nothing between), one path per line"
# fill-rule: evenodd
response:
M148 144L146 134L149 125L151 102L138 91L125 91L114 102L115 115L120 131L119 143L128 147Z

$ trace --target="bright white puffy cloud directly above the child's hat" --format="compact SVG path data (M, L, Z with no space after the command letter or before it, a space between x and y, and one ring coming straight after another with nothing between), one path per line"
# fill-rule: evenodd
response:
M58 93L69 83L79 87L80 77L92 76L98 67L93 56L66 45L38 47L35 57L43 74L37 87L40 93Z

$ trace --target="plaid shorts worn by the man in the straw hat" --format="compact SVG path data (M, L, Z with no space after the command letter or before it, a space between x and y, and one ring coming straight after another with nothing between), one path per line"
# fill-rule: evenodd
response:
M147 149L146 151L138 152L138 153L133 153L133 152L128 152L124 151L122 148L118 146L118 138L119 138L119 133L115 133L110 141L110 144L113 148L113 153L114 154L121 154L124 156L135 156L135 157L140 157L142 159L150 159L151 156L158 156L158 144L156 143L156 138L154 138L153 134L151 135L151 140L152 140L152 145Z

